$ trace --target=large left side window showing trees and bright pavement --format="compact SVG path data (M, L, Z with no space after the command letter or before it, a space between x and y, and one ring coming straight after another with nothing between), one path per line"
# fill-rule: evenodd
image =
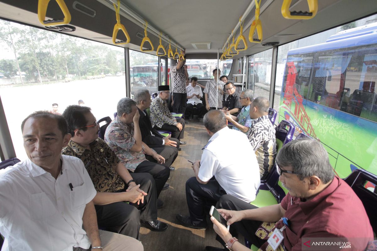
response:
M8 21L0 20L0 30L0 95L21 160L20 125L29 114L63 113L83 100L99 120L126 96L123 48Z

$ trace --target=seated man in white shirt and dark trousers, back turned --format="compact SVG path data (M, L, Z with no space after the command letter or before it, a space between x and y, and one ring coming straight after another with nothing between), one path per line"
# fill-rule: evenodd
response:
M229 129L224 113L219 110L209 111L203 121L211 138L203 148L201 160L193 163L195 177L186 182L190 216L176 216L179 224L198 229L207 227L206 206L215 205L221 195L230 194L251 202L260 184L258 163L254 154L250 155L253 149L245 134Z

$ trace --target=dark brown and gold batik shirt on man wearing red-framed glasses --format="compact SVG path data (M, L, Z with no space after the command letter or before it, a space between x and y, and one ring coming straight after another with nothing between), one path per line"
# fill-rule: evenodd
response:
M70 140L61 153L83 161L97 192L113 193L123 190L124 181L115 171L116 165L120 162L115 153L101 138L97 138L89 145L91 150Z

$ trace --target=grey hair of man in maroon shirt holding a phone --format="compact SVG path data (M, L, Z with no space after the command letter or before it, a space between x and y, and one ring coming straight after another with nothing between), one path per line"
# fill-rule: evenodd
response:
M334 179L325 148L312 138L293 140L284 145L276 155L276 163L280 167L293 167L300 180L315 175L327 184Z

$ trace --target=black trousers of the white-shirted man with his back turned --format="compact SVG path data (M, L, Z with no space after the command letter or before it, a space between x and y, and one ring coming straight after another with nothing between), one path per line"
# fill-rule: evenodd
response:
M210 208L216 205L221 195L226 194L220 184L212 178L207 184L200 184L196 177L186 181L186 200L189 206L190 220L193 225L205 226L205 217Z

